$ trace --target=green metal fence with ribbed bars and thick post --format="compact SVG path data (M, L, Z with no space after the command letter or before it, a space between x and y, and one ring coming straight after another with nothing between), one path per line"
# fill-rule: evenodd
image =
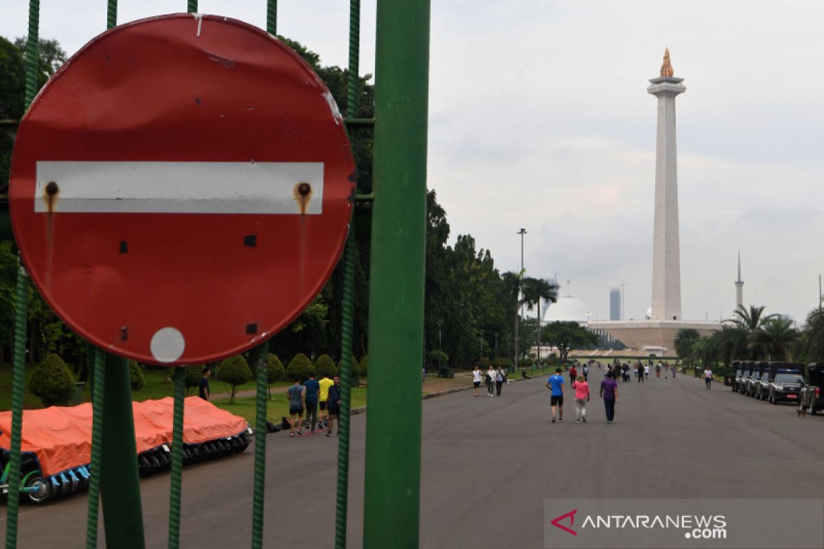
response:
M277 34L276 0L266 2L266 30ZM106 27L117 25L117 0L108 0ZM198 11L187 0L188 12ZM29 2L26 43L26 108L37 91L40 2ZM367 429L364 547L417 547L419 538L419 395L403 390L419 382L424 337L424 235L426 221L426 135L428 115L429 0L378 0L375 119L358 119L360 2L349 2L350 141L357 128L374 126L374 197L370 294L371 342ZM12 123L3 121L4 123ZM6 124L8 125L8 124ZM354 208L353 208L354 211ZM349 410L352 354L353 272L356 254L354 216L344 249L341 304L341 406L335 547L346 547L349 496ZM20 477L22 406L26 361L28 276L21 265L16 287L12 379L10 479ZM100 502L106 545L145 547L135 451L129 365L121 357L88 346L92 364L91 479L88 493L87 547L97 547ZM255 488L252 547L263 547L266 468L265 369L268 344L258 349L255 413ZM182 440L185 373L174 373L173 440ZM398 415L396 410L405 410ZM180 547L182 444L172 444L168 547ZM6 547L17 546L20 485L9 482ZM25 541L23 543L25 546Z

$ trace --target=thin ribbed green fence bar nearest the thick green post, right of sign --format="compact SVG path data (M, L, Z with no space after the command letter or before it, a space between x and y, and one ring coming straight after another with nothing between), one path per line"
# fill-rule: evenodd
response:
M349 75L346 82L346 114L358 117L358 61L360 57L360 0L349 0ZM354 131L349 133L355 152ZM352 322L354 308L355 234L354 208L344 249L344 295L340 328L340 416L338 418L338 491L335 507L335 548L346 547L346 521L349 505L349 411L352 404Z

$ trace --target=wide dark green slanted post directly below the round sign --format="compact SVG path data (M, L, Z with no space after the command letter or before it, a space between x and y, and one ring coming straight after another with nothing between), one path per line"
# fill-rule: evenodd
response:
M105 353L101 496L106 547L146 547L129 361ZM96 380L95 380L96 383Z

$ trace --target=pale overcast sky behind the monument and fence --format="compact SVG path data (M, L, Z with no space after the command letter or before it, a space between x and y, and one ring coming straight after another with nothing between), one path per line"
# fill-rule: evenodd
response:
M685 319L727 318L741 249L744 300L803 320L824 272L824 2L433 0L428 181L452 240L470 233L517 270L608 318L650 305L657 77L669 47L677 99ZM43 0L40 33L73 54L105 2ZM185 11L122 0L119 22ZM28 2L0 0L0 35L26 34ZM265 2L200 12L265 26ZM375 2L362 1L361 70L374 67ZM279 2L279 33L346 65L349 2ZM567 287L571 280L571 287Z

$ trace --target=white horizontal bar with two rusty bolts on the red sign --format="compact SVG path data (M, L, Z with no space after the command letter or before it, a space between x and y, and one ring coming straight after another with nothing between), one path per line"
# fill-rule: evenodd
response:
M38 161L35 212L49 190L60 213L317 215L323 163Z

